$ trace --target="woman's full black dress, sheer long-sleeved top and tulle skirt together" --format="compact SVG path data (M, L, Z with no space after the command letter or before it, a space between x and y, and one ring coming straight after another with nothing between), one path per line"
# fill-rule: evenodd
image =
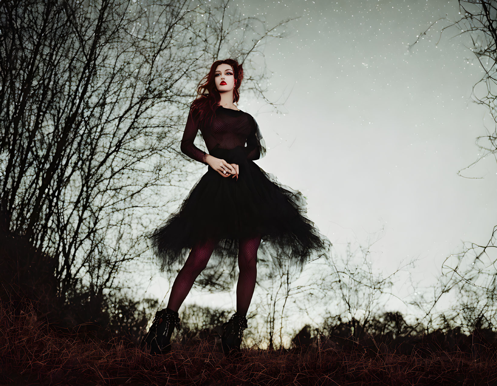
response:
M193 144L200 129L209 154L238 164L239 176L223 177L208 166L179 208L150 236L161 269L183 263L196 242L211 237L219 243L210 262L228 267L237 263L238 239L258 234L262 235L258 255L283 259L301 269L313 255L329 256L331 242L306 217L303 194L282 185L253 162L266 152L254 118L222 106L217 107L210 125L196 118L190 109L181 151L208 165L206 153Z

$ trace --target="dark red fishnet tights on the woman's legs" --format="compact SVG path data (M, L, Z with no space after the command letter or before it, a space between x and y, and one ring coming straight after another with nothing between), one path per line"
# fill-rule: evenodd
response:
M257 250L261 237L252 237L239 240L238 267L240 275L237 283L237 312L247 314L252 300L257 278ZM178 272L172 284L167 308L178 311L179 307L190 292L197 276L207 266L207 262L219 240L211 239L205 243L195 245L188 255L185 264Z

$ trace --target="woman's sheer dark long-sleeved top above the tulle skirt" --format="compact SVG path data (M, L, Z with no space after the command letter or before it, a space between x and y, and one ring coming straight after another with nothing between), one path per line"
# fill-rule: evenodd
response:
M209 152L218 147L233 149L242 146L248 160L256 160L266 154L264 139L257 122L250 114L242 110L218 106L212 124L205 125L199 122L198 113L190 108L181 139L181 151L188 157L208 165L205 162L205 151L193 144L199 129Z

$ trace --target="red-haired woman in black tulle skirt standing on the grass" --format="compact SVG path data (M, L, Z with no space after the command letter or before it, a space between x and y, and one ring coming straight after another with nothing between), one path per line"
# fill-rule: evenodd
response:
M153 354L169 352L174 326L179 329L178 309L213 253L219 261L238 258L240 270L237 312L223 324L221 338L228 355L240 351L247 328L261 240L280 258L300 267L313 252L329 251L331 246L305 217L302 193L279 184L253 162L266 149L253 117L236 106L242 65L232 59L216 61L205 78L188 114L181 151L208 165L208 170L179 209L151 235L161 268L181 261L191 248L174 280L167 308L156 313L144 338ZM199 129L209 154L193 144Z

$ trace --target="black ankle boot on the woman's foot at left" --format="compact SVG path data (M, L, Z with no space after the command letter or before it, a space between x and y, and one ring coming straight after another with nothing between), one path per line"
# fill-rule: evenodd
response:
M171 335L174 327L180 328L177 311L164 308L157 311L149 332L142 341L152 355L166 354L171 350Z

